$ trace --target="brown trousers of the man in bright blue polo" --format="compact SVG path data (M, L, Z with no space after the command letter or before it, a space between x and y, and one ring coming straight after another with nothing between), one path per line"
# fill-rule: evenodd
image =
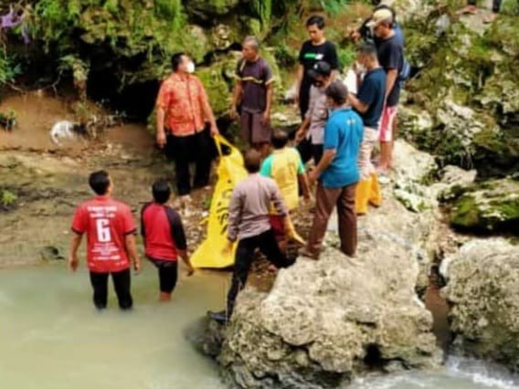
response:
M328 220L337 206L339 216L339 237L341 250L345 255L353 257L357 247L357 221L355 213L356 184L344 188L325 188L317 185L315 193L315 215L313 216L312 230L308 238L308 251L318 256L323 246Z

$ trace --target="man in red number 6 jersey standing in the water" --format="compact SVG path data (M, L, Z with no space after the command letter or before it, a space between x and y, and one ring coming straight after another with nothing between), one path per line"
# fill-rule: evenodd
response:
M78 269L78 248L86 234L87 264L94 290L94 305L98 310L106 308L108 277L111 275L119 307L130 310L133 305L130 261L136 273L141 270L132 210L128 205L111 198L113 184L108 173L91 173L89 184L97 196L79 205L76 210L72 222L74 236L70 242L69 268L72 271Z

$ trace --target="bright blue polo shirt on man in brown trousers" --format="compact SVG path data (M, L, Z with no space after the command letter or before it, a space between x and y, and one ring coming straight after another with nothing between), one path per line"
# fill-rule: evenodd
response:
M360 179L358 154L364 135L360 116L351 108L334 110L324 128L324 151L336 151L334 161L319 177L325 188L342 188Z

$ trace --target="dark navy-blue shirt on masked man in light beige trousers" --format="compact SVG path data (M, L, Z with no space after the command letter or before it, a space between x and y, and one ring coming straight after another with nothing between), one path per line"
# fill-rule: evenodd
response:
M378 128L386 100L386 71L375 68L365 74L357 98L368 106L365 113L358 112L366 127Z

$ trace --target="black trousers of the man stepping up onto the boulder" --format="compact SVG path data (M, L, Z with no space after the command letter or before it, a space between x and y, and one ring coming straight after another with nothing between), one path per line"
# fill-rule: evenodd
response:
M274 230L270 228L256 237L247 237L238 242L232 283L228 291L227 314L234 310L234 304L239 290L245 287L249 277L250 265L254 259L254 252L260 248L261 253L277 268L288 268L294 260L287 258L280 250Z

